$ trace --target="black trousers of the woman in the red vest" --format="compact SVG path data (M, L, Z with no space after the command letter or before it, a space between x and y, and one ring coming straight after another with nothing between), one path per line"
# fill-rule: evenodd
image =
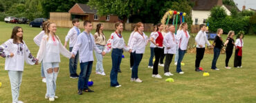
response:
M163 48L155 47L154 54L155 54L155 62L153 65L153 74L158 74L158 63L161 56L161 52L163 52Z

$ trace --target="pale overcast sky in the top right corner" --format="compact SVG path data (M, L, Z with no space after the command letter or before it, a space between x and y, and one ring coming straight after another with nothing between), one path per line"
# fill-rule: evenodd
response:
M256 10L256 0L234 0L235 3L237 3L237 8L241 10L243 8L243 5L246 5L246 10L248 8L252 8Z

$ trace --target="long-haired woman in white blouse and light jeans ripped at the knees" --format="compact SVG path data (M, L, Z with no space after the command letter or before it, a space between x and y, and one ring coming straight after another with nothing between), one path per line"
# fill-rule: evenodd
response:
M42 42L37 53L39 62L44 63L44 73L46 74L47 92L45 98L54 101L56 90L57 74L59 72L60 54L66 58L73 57L60 42L60 38L55 35L57 30L55 23L48 23L46 26L46 35L43 36Z

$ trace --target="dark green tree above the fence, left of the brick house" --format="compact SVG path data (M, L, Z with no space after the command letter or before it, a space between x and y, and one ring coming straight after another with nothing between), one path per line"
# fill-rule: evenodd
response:
M46 0L42 1L43 13L49 17L49 12L68 12L75 3L87 3L88 0Z

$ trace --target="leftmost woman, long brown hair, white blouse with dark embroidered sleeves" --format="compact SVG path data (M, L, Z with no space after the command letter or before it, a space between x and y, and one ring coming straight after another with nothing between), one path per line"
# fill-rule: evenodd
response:
M12 102L19 101L19 89L24 71L24 61L29 65L37 65L34 58L23 39L21 27L14 27L11 38L0 45L0 56L6 58L5 69L8 71L12 89Z

